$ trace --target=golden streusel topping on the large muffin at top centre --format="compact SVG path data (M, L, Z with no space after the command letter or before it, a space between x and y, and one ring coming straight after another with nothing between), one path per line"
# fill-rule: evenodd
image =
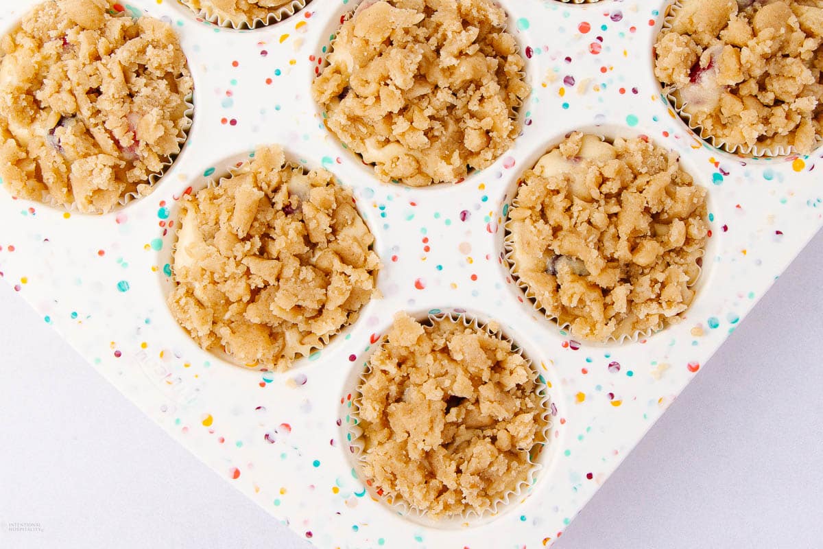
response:
M314 80L328 128L380 179L454 183L518 134L523 58L491 0L365 0Z

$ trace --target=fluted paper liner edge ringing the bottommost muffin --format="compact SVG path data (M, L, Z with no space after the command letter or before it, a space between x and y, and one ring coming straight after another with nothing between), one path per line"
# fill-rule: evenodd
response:
M523 348L518 347L518 345L512 341L511 338L507 337L502 332L497 323L492 320L486 323L481 323L477 317L467 316L467 313L463 311L463 309L431 309L427 313L412 314L412 317L424 325L430 325L438 322L450 322L462 324L466 328L474 328L484 331L491 335L491 337L508 342L512 346L512 350L514 352L520 356L523 356L523 358L526 359L529 368L532 370L533 379L537 384L537 394L542 397L542 419L545 421L542 429L542 440L536 442L532 449L528 452L528 463L531 467L528 470L527 477L519 482L518 486L516 486L513 491L507 492L502 498L496 500L495 503L491 505L490 509L486 509L482 512L477 512L476 510L471 509L463 514L454 516L447 515L441 519L434 519L430 517L427 511L416 509L415 507L408 505L407 502L403 500L401 495L382 491L379 492L380 488L378 486L372 486L370 479L361 478L360 480L365 484L366 490L370 492L370 495L374 500L382 501L393 512L396 512L397 514L400 514L401 516L416 523L421 523L432 528L465 528L467 526L476 526L480 523L491 522L491 520L514 508L518 505L518 503L528 497L532 486L534 486L535 482L537 482L537 472L543 468L542 460L540 458L543 455L546 455L546 445L549 444L552 426L551 398L546 391L546 383L542 379L542 375L540 375L537 369L535 369L532 365L531 359L529 359L528 356L524 356ZM344 438L348 444L348 454L356 464L356 472L358 475L363 474L362 467L365 462L365 454L363 452L365 441L361 438L363 435L363 430L360 429L360 420L357 416L361 398L359 387L365 382L366 376L372 371L370 365L371 355L375 350L377 350L378 347L382 346L385 341L386 337L383 336L377 342L374 342L374 345L370 346L367 351L368 357L363 363L364 370L360 372L360 375L357 375L357 373L354 372L348 380L346 393L351 395L351 400L347 400L346 398L343 399L343 405L346 407L346 410L342 412L342 421L345 422L342 426L345 432Z

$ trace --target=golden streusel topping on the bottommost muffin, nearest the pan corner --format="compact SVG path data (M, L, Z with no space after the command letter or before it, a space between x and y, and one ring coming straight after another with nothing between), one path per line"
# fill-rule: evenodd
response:
M491 509L528 482L546 410L511 343L398 313L370 367L356 413L373 486L439 519Z

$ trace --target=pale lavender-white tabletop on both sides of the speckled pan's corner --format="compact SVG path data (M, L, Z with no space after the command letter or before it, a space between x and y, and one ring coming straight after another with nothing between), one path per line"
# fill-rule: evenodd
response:
M823 234L556 549L821 547L821 272ZM15 293L0 283L0 548L309 547L121 397ZM9 532L13 522L43 532Z

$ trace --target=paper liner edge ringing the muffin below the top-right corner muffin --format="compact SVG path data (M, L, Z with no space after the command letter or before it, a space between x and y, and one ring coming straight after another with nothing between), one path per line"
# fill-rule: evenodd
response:
M638 133L631 132L631 131L626 130L625 128L621 128L621 127L608 128L607 132L603 132L602 129L603 128L599 128L599 127L598 128L579 128L576 131L586 133L586 134L595 135L597 137L600 137L601 141L604 141L604 142L614 142L614 139L616 137L623 137L624 139L627 139L627 138L630 138L630 137L638 137L638 135L639 135ZM537 165L537 161L540 161L540 159L542 158L543 155L545 155L549 151L552 151L556 147L558 147L560 145L560 142L563 142L565 140L565 138L568 137L569 135L570 135L570 133L567 133L564 136L559 137L555 141L551 142L551 144L548 147L545 147L544 149L542 149L541 152L539 153L539 155L537 155L535 158L532 159L532 161L527 163L527 165L530 166L528 168L528 170L532 170L532 168L535 165ZM682 157L683 156L681 155L681 159L682 159ZM686 173L691 174L691 172L689 170L686 170L685 167L681 167L681 169L686 171ZM516 286L518 286L518 288L523 292L523 295L526 298L525 300L523 300L524 303L528 300L528 303L530 303L532 305L532 308L534 310L536 310L540 314L543 314L546 317L546 319L551 320L552 322L556 323L557 328L559 328L560 330L565 330L568 333L570 333L571 337L575 337L574 333L572 333L571 330L570 330L571 323L569 323L569 322L561 323L560 319L558 319L555 315L550 314L548 312L548 310L545 307L543 307L543 305L541 305L537 301L537 295L532 290L531 286L529 286L526 282L523 281L522 278L520 278L518 276L518 269L517 269L517 267L514 263L514 237L512 235L512 230L511 230L511 219L509 218L509 211L511 210L511 208L518 207L518 205L519 205L518 204L518 190L520 188L520 184L521 184L522 180L523 180L522 178L517 179L516 187L513 188L511 193L510 193L511 200L505 201L505 204L504 204L505 215L502 215L502 217L504 218L504 221L503 221L503 251L502 251L501 256L502 256L502 259L504 261L505 269L509 273L509 276L511 277L511 281ZM698 183L695 182L695 184L698 184ZM704 188L706 188L706 187L704 187ZM709 199L708 198L707 198L706 202L707 202L707 210L709 210L709 207L708 207ZM501 214L502 213L503 212L501 212ZM695 282L689 286L690 288L696 289L697 287L701 286L701 282L703 281L703 279L705 277L704 272L703 272L703 266L702 266L701 263L702 263L702 258L704 258L705 255L706 255L706 249L709 248L709 244L711 244L711 239L708 239L706 241L706 245L701 250L702 253L700 254L700 256L698 258L698 259L700 259L700 263L697 263L697 268L698 268L697 278L695 279ZM686 311L684 311L684 313L686 313L689 310L689 307L695 302L695 299L696 299L696 295L695 295L695 298L693 298L691 300L691 303L688 305L688 307L686 308ZM683 313L681 313L681 314L683 314ZM586 345L588 345L588 346L598 346L598 345L604 345L605 346L605 345L608 345L610 343L621 344L621 343L624 343L624 342L627 342L627 341L628 342L638 342L641 339L645 339L646 337L650 337L654 333L661 332L665 329L666 329L666 327L663 327L661 330L654 330L653 328L649 328L649 329L646 329L646 330L638 330L638 331L635 331L635 332L632 332L632 333L621 333L621 334L618 334L618 335L612 335L612 336L608 337L607 340L604 341L604 342L598 342L597 340L588 340L588 339L584 340L584 341L586 342Z

